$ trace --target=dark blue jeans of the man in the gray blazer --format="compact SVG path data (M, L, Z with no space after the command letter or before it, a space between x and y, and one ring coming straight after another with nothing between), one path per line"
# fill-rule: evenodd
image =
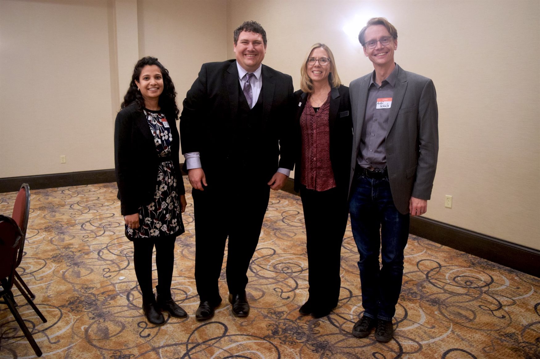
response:
M396 209L388 178L369 178L357 173L351 190L350 224L360 253L362 307L368 317L392 320L401 292L409 215ZM379 266L381 247L382 268Z

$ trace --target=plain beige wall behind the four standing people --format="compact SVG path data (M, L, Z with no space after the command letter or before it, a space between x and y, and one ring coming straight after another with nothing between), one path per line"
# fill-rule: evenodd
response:
M348 84L373 67L343 26L372 16L397 27L396 62L437 88L426 216L540 249L537 0L0 0L0 177L113 168L113 114L139 57L168 68L180 105L200 65L233 58L234 27L254 19L265 64L295 88L315 42Z

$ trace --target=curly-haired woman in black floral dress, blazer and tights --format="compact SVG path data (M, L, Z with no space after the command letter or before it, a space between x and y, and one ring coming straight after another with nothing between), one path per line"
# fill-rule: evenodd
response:
M179 110L172 80L157 58L140 59L114 123L114 164L126 237L133 241L133 263L143 296L143 312L163 325L161 310L185 317L171 297L174 242L184 233L186 209L180 172ZM156 246L157 300L152 288Z

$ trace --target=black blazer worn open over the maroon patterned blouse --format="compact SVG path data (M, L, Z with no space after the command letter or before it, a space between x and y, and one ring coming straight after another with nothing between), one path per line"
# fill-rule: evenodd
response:
M295 135L297 144L295 150L294 190L300 191L302 176L302 132L300 116L306 106L308 94L298 90L294 93L296 107ZM308 105L309 106L309 105ZM345 192L349 185L349 161L353 143L353 122L350 113L349 88L340 85L330 90L330 112L328 115L330 130L330 162L334 171L334 180L338 188Z

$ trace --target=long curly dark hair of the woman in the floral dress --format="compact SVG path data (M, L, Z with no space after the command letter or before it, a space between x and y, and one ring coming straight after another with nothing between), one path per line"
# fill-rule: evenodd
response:
M159 107L161 107L161 109L163 109L165 112L174 111L176 119L178 119L180 110L178 109L178 106L176 106L176 91L174 90L174 84L172 83L171 77L168 74L168 70L161 65L157 58L151 56L143 57L137 61L137 64L133 69L133 75L131 76L130 88L127 89L124 96L124 102L122 102L120 108L131 105L133 102L137 103L137 108L139 110L144 108L144 98L143 95L140 94L140 91L138 91L135 81L139 81L141 71L145 66L148 65L158 66L159 70L161 70L161 75L163 76L163 92L159 96Z

